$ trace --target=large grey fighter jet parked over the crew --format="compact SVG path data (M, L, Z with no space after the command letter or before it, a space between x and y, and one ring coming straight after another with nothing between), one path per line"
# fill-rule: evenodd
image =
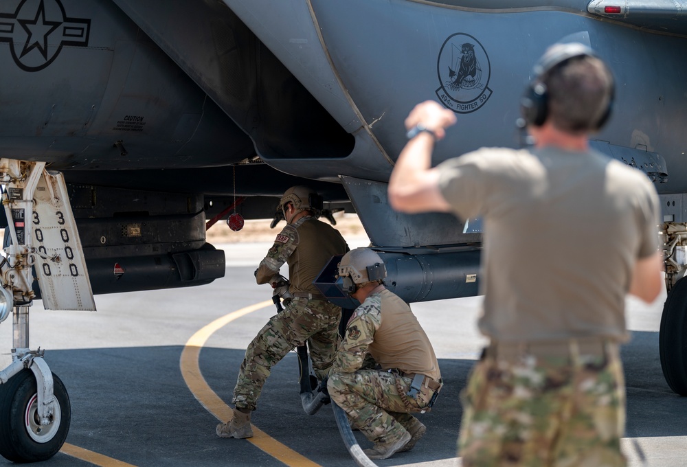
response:
M326 212L356 212L388 286L407 301L476 295L479 222L399 214L387 202L403 119L427 99L456 113L435 163L522 146L516 121L532 64L559 42L592 47L616 78L611 119L592 146L645 172L661 194L670 290L661 361L687 395L686 7L3 0L0 320L14 315L15 340L0 372L0 454L47 459L69 429L65 387L28 343L34 299L86 310L93 294L223 277L206 227L272 218L291 185L317 190Z

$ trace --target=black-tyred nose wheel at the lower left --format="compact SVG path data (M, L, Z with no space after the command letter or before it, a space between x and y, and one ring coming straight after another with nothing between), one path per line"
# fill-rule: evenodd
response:
M52 375L55 401L53 422L37 421L36 378L23 369L0 385L0 455L12 462L38 462L54 456L67 439L71 422L69 395L60 378Z

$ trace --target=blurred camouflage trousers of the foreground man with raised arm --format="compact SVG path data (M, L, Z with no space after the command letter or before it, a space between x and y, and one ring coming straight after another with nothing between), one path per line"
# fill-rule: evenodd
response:
M464 467L625 466L625 389L618 345L605 355L493 358L462 392Z

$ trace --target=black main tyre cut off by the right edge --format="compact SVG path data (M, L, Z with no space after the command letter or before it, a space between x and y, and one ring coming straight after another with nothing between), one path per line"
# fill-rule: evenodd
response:
M663 306L658 334L661 367L668 386L687 396L687 279L671 288Z

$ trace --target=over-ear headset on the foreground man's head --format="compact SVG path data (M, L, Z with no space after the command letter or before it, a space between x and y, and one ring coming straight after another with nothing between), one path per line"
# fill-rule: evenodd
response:
M598 58L594 50L581 43L560 44L553 47L543 54L539 61L532 68L534 79L526 88L520 100L520 113L528 125L542 126L548 117L548 89L543 80L545 76L554 68L563 65L571 58L590 56ZM609 70L610 74L610 70ZM615 86L611 76L611 95L609 96L608 106L596 124L590 126L591 130L600 130L611 116L613 107L613 97Z

